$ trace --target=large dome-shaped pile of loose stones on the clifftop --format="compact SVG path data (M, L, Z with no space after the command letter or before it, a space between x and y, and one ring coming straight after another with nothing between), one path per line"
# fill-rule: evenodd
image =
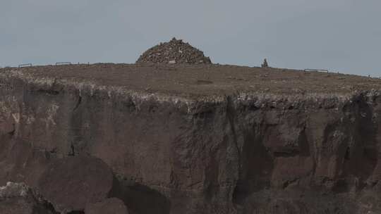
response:
M212 62L202 51L181 39L173 38L145 51L136 63L211 64Z

